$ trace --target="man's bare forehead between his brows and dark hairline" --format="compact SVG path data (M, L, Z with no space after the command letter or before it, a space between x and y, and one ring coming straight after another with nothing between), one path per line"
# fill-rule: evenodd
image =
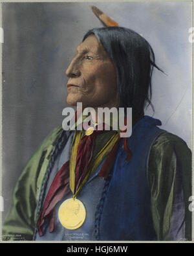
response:
M97 54L106 54L105 49L96 36L88 36L83 42L81 42L77 47L78 52L95 52Z

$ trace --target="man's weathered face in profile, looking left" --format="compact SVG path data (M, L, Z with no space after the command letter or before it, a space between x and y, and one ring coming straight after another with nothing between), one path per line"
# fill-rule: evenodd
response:
M67 104L83 107L118 107L116 72L107 52L94 35L78 45L66 75Z

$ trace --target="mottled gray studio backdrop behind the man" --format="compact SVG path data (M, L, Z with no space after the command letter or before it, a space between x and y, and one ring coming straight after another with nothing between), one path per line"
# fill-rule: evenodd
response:
M167 73L153 74L154 117L191 148L191 2L3 3L3 218L29 157L63 120L65 69L78 43L102 27L89 5L151 43Z

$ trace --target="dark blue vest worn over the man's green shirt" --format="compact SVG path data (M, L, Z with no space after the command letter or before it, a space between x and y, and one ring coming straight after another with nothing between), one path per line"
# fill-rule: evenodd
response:
M83 204L91 205L89 200L95 202L95 205L92 206L94 209L90 210L90 215L94 215L92 211L96 212L92 217L96 240L156 240L146 172L151 146L156 137L165 132L157 128L157 125L161 125L161 122L148 116L136 122L132 135L128 138L128 146L132 151L131 159L125 162L126 152L121 140L113 169L105 182L101 181L102 178L97 178L96 181L92 181L92 187L88 183L81 191ZM98 175L99 170L100 166L97 167L94 174ZM54 176L55 174L50 174L50 181ZM48 190L49 182L47 185L46 190ZM91 189L93 190L95 187L99 189L98 193L91 194ZM86 222L82 229L87 229L87 225L90 228L92 226ZM57 240L66 240L62 237L62 233L63 231L56 223L56 230L53 234L49 234L47 231L44 237L38 238L36 235L34 239L51 240L53 237Z

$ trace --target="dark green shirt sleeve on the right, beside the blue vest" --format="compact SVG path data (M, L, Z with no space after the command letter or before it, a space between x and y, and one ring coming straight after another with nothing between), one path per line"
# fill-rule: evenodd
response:
M191 240L191 150L178 136L159 135L148 165L151 213L158 240Z

